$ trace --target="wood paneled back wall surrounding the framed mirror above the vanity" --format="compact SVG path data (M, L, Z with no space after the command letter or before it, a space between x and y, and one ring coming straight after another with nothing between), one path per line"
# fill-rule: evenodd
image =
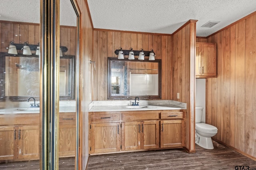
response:
M108 57L117 57L116 49L150 51L154 49L156 59L162 59L162 100L172 98L171 58L172 36L124 31L94 30L94 55L96 62L93 74L92 100L108 100ZM126 56L128 57L128 56ZM135 56L138 57L138 56Z

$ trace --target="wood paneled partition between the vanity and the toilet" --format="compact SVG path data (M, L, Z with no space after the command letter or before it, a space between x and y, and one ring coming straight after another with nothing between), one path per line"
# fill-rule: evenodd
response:
M195 57L196 57L196 21L191 20L185 27L172 36L172 100L187 104L186 148L195 151ZM180 98L177 98L177 93Z

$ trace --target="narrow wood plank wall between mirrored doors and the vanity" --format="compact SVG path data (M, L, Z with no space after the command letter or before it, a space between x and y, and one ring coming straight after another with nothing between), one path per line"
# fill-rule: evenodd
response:
M79 43L79 144L78 144L78 169L86 169L89 149L88 149L88 110L91 99L91 86L94 74L93 64L90 60L93 57L93 25L90 21L87 0L76 0L80 14L80 43ZM93 60L92 60L93 61ZM92 83L91 83L92 82Z

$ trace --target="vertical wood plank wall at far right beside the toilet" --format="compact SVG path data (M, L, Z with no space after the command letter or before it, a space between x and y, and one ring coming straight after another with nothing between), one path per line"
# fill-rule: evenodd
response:
M217 78L206 80L206 122L213 137L256 159L256 12L197 42L217 43Z

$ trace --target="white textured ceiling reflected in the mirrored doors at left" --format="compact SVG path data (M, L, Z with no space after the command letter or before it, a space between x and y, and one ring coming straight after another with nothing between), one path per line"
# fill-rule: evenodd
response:
M0 0L0 20L40 23L40 0ZM60 0L60 25L76 26L70 0Z

